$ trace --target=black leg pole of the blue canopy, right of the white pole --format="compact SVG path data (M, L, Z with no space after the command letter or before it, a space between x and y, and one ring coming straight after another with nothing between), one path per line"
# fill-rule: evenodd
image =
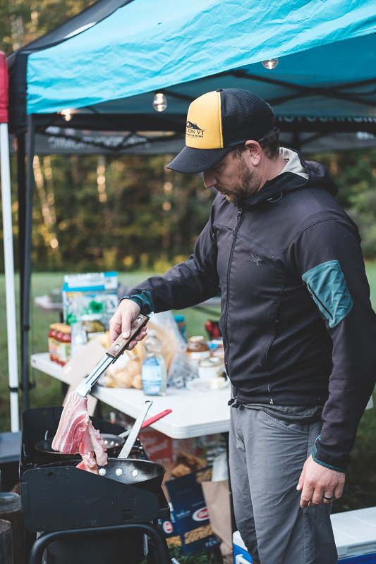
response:
M34 192L34 171L32 161L34 160L35 147L35 127L32 116L28 118L28 173L26 181L25 198L25 260L24 260L24 280L23 280L23 354L22 354L22 381L23 381L23 409L29 407L29 334L30 334L30 293L31 293L31 250L32 250L32 196Z

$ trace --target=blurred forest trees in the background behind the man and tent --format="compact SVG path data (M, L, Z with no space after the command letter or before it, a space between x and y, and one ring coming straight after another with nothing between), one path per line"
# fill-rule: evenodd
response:
M7 55L82 11L85 0L0 0ZM376 149L303 154L325 164L338 200L358 223L366 260L376 257ZM164 271L190 255L214 191L198 175L166 169L172 155L36 155L34 271ZM16 157L11 156L18 269ZM1 238L3 234L1 231ZM0 244L0 271L4 271Z

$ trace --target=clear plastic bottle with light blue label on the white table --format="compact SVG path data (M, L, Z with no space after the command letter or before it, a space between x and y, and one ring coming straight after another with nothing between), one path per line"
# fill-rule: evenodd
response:
M146 356L142 362L142 390L147 396L164 396L167 387L166 362L157 331L149 331L145 340Z

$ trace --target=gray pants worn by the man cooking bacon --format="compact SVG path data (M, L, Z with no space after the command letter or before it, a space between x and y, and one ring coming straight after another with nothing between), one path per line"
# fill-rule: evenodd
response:
M302 509L296 490L321 422L296 424L231 409L231 490L236 526L261 564L335 564L331 504Z

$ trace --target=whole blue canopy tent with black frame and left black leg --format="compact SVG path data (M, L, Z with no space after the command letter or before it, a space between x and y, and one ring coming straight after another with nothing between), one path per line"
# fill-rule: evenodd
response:
M192 99L241 87L272 104L291 146L300 148L308 133L375 135L375 32L371 0L99 0L8 57L10 128L19 154L25 392L35 133L182 135ZM278 59L271 70L262 64L269 59ZM156 92L165 96L164 111L152 106Z

